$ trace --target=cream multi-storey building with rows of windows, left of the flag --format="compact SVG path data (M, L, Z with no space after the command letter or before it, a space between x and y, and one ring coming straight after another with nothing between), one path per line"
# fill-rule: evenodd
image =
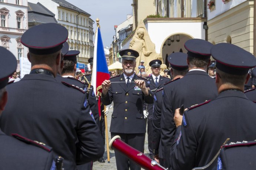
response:
M65 0L29 0L40 3L54 14L57 22L69 31L68 44L70 50L79 50L77 60L88 64L93 57L93 23L90 14Z

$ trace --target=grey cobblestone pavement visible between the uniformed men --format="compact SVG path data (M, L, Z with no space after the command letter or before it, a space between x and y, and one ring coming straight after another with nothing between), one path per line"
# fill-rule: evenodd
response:
M109 132L109 127L110 127L110 121L111 121L111 115L113 112L113 108L109 109L109 113L107 116L107 128L108 128L108 133L109 133L109 141L111 139L110 132ZM106 144L107 145L107 144ZM93 170L116 170L116 157L114 154L114 150L109 150L109 155L110 155L110 163L107 162L107 146L105 145L105 153L104 153L104 159L105 163L99 163L99 162L94 162L93 163ZM145 150L144 153L148 156L149 155L149 148L148 148L148 142L147 142L147 133L146 133L146 138L145 138Z

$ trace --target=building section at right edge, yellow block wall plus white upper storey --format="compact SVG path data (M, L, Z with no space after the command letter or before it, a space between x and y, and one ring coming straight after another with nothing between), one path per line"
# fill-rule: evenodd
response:
M212 6L207 10L209 28L207 40L213 44L221 42L235 44L256 55L254 2L253 0L213 1Z

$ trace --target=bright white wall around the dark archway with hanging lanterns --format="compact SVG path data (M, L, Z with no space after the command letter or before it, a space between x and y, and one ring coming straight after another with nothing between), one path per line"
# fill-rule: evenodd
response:
M151 41L156 45L157 53L161 53L163 43L171 35L184 34L191 38L205 39L203 22L149 22L145 26Z

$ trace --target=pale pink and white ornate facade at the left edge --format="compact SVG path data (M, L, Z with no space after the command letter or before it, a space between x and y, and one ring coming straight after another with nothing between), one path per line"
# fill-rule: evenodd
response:
M0 46L16 56L19 72L19 60L26 57L28 52L20 42L21 35L28 29L27 0L0 0L0 14Z

